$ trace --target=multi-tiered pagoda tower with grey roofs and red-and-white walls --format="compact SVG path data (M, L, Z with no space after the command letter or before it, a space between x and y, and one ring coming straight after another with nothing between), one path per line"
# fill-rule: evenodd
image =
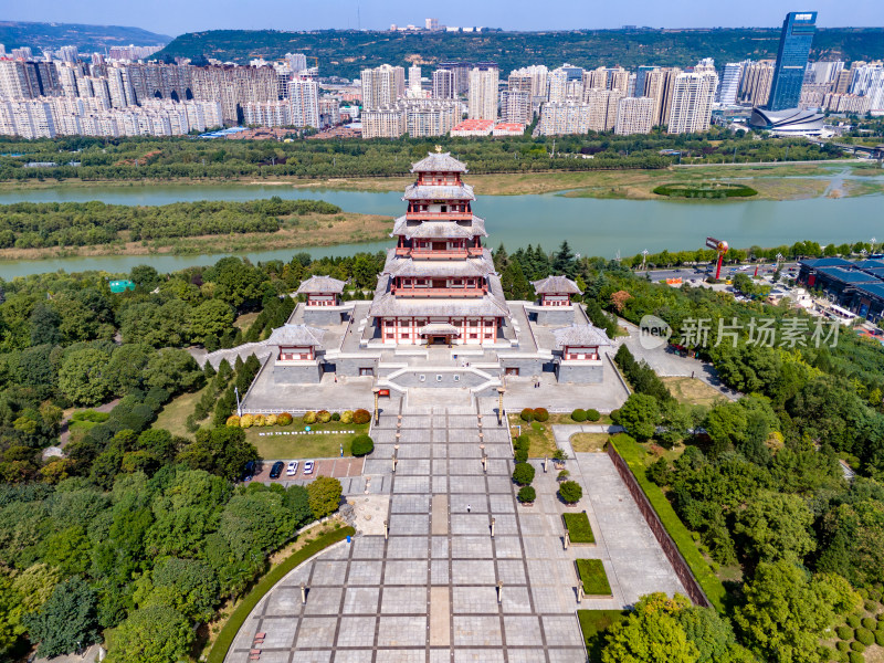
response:
M414 164L369 317L385 345L492 345L509 317L466 166L436 148Z

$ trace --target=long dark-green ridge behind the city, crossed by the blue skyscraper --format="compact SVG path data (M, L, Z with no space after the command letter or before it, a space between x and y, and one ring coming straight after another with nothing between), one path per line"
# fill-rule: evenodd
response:
M693 65L701 57L716 63L776 57L780 30L575 30L481 33L369 32L323 30L213 30L172 40L158 56L215 57L245 63L273 60L286 52L318 57L324 74L354 77L365 66L407 62L427 66L445 60L494 61L508 73L528 64L555 67L564 62L596 67L621 64ZM813 57L871 60L884 56L884 28L830 28L813 41Z

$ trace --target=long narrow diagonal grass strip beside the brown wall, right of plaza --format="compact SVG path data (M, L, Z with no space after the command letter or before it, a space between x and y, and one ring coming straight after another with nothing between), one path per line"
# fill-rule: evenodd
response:
M645 459L648 457L648 452L635 442L635 440L625 434L615 435L611 439L610 443L614 445L614 449L617 449L629 465L629 469L632 471L642 491L648 496L651 506L654 507L666 532L675 541L685 561L687 561L687 566L691 567L691 571L706 593L706 598L720 611L724 607L725 587L699 552L699 549L691 536L691 532L678 518L678 515L675 513L675 509L672 508L672 504L666 499L663 491L645 476L644 470L646 466Z

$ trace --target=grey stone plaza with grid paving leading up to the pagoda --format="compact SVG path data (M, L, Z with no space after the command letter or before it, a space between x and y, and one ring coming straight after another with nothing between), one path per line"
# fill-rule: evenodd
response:
M508 434L494 413L480 427L475 408L411 408L401 428L397 414L375 427L365 464L372 482L382 475L390 486L389 538L358 535L292 571L245 621L227 663L249 661L253 649L264 663L586 661L573 559L608 556L602 547L562 549L554 474L538 467L536 484L547 490L534 507L519 506ZM653 577L649 587L621 588L610 559L606 568L614 597L582 607L617 608L624 594L671 588L654 587ZM263 643L253 644L255 633L266 634Z

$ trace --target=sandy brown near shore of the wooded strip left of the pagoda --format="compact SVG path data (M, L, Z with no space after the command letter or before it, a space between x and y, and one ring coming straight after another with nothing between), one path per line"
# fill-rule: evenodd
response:
M0 249L0 261L52 260L65 257L97 257L108 255L207 255L250 253L284 249L335 246L344 242L362 244L389 239L392 219L377 214L340 212L338 214L304 214L284 220L276 232L252 232L225 235L165 238L150 241L90 246L49 246L41 249Z

